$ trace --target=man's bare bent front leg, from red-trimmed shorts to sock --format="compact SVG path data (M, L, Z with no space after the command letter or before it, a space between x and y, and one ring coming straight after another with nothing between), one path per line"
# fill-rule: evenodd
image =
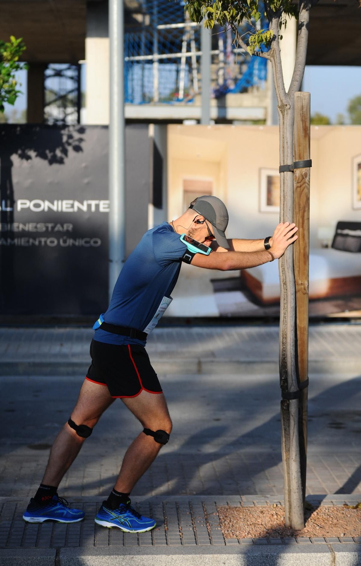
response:
M171 434L172 421L163 393L155 395L142 391L137 397L123 398L122 401L144 428L150 428L153 431L164 430ZM114 486L115 490L130 493L138 479L155 460L160 448L162 448L162 444L156 442L153 436L147 436L144 432L141 432L125 452L120 473Z

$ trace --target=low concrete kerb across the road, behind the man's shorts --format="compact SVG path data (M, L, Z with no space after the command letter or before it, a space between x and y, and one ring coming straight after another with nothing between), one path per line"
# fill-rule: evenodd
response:
M159 358L151 356L151 362L158 374L277 374L279 363L274 360L202 359L202 358ZM11 361L0 363L0 376L10 375L82 375L89 366L89 359L84 361L27 362ZM308 363L310 374L358 375L358 358L319 359Z

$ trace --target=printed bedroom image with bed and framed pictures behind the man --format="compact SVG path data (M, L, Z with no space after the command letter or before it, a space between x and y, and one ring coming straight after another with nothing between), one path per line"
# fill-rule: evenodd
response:
M361 317L360 140L361 126L311 126L311 318ZM278 152L276 126L168 126L169 218L197 196L213 194L228 208L228 238L272 235L280 215ZM279 312L274 261L233 272L183 265L167 316Z

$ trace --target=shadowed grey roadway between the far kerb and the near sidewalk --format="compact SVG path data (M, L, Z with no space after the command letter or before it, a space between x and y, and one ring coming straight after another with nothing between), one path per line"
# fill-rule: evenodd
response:
M68 419L82 376L0 379L0 496L31 496ZM279 495L280 392L276 375L160 376L171 441L133 495ZM310 375L308 494L361 493L358 376ZM116 401L68 470L60 495L107 495L140 425Z

